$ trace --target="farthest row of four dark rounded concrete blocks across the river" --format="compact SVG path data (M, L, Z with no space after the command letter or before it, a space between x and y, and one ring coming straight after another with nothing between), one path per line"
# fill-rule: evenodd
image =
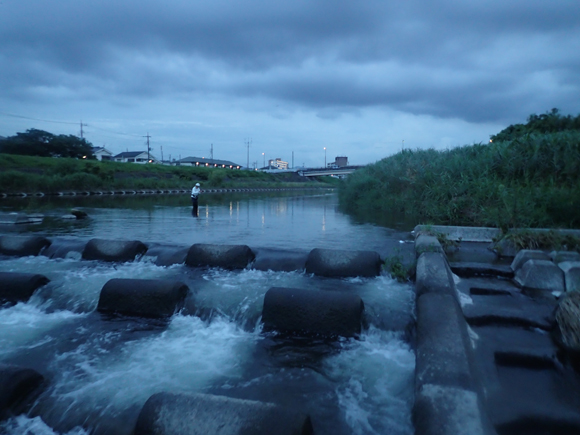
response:
M51 241L41 236L0 236L0 254L12 256L39 255ZM121 240L91 239L82 251L85 260L113 262L134 261L148 250L144 243ZM244 269L256 255L247 245L194 244L181 262L192 267ZM180 262L180 260L177 260ZM288 260L293 270L305 269L325 277L373 277L381 273L383 262L375 251L344 251L315 248L305 258Z

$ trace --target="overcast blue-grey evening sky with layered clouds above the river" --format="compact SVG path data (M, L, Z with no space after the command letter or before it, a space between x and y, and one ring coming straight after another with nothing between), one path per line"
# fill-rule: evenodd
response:
M366 164L553 107L580 113L579 0L0 0L1 136Z

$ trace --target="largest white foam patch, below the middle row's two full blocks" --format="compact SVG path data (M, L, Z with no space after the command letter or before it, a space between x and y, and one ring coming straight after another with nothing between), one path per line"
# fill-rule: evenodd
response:
M156 392L201 391L216 378L235 379L256 336L223 319L208 325L177 315L159 335L112 349L106 340L95 337L59 356L51 396L63 414L115 415Z

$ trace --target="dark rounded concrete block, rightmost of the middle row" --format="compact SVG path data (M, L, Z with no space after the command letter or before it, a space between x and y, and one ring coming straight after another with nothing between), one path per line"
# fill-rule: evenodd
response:
M354 294L273 287L264 296L264 330L297 335L360 334L364 303Z

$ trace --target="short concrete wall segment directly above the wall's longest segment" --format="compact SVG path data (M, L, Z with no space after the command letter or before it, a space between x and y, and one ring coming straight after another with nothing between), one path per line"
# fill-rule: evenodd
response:
M445 256L439 252L424 252L417 261L415 291L417 297L424 293L444 293L456 297L453 274Z

